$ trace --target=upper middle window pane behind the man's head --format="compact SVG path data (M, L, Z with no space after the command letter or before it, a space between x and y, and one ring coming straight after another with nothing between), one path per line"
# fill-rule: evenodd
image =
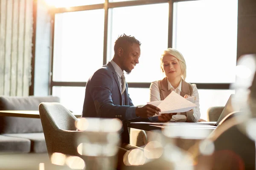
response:
M126 81L152 82L159 79L160 56L163 49L168 47L169 4L130 6L109 10L111 10L112 29L108 34L110 42L108 60L111 60L114 55L113 47L117 37L123 33L132 35L141 42L140 63L131 74L125 76Z

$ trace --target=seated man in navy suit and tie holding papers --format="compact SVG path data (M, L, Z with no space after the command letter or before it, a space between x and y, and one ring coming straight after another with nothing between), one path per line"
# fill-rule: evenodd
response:
M103 65L87 81L82 117L120 119L123 125L121 147L129 150L128 120L167 122L171 117L165 114L150 119L159 114L160 109L149 104L135 107L129 97L123 71L130 74L139 63L140 41L123 34L115 42L114 53L111 62Z

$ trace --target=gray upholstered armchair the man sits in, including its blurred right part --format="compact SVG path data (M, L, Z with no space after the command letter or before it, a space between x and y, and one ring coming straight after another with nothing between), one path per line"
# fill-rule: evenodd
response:
M104 161L106 162L106 159L113 163L108 163L107 166L116 167L116 154L113 156L87 154L90 151L95 152L99 148L90 147L86 150L87 147L84 147L88 144L91 144L90 146L98 144L99 140L106 143L110 140L107 130L103 132L90 131L90 129L76 130L78 119L60 103L43 102L39 105L39 113L50 159L53 153L63 153L68 156L79 156L85 161L86 169L97 169L99 166L105 166ZM88 121L90 122L90 118ZM91 124L89 123L89 125ZM79 144L81 143L82 147L78 152L78 146L80 147Z

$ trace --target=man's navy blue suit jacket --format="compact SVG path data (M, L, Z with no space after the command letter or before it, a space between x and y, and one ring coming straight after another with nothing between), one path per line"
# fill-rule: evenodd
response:
M137 116L135 114L136 107L128 94L127 83L123 95L125 97L124 105L122 105L121 89L113 65L110 62L103 65L87 81L82 117L120 119L123 124L122 143L129 143L127 121L135 119Z

